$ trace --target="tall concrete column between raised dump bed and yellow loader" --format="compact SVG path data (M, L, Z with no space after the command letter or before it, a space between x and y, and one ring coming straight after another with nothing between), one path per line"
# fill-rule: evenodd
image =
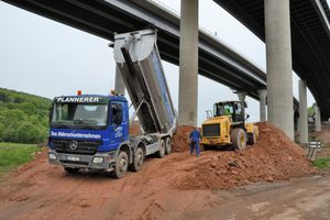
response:
M182 0L179 54L179 125L197 125L198 0Z

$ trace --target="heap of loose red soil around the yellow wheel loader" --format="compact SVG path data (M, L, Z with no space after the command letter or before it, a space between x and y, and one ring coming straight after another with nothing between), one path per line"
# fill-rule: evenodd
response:
M184 169L182 177L173 180L173 189L223 189L256 182L286 180L320 174L320 170L305 158L305 151L294 143L280 129L267 122L260 122L260 139L243 151L213 150L205 152L194 165ZM187 140L191 128L180 127L176 151L189 150ZM186 147L183 147L186 145Z

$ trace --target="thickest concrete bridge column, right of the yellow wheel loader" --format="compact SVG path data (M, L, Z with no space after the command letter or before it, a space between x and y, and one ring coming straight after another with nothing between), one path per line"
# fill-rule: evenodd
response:
M264 0L268 122L294 140L289 0Z

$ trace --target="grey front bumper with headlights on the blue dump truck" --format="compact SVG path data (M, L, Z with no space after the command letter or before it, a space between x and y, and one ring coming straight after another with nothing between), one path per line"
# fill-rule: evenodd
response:
M56 156L56 158L50 158L50 154ZM79 161L70 161L68 156L79 157ZM96 164L92 163L94 157L102 157L103 163ZM116 151L112 152L97 152L95 155L80 155L80 154L67 154L67 153L57 153L54 148L48 151L48 162L54 165L62 165L63 167L73 167L73 168L97 168L97 169L111 169L112 165L116 162Z

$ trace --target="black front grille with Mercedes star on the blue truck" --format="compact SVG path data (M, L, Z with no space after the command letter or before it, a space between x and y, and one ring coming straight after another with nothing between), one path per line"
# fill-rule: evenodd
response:
M102 145L102 141L80 141L54 138L51 138L50 141L54 144L56 152L69 154L94 155L97 152L98 147ZM76 150L72 150L69 147L72 141L76 141L78 143L78 147Z

